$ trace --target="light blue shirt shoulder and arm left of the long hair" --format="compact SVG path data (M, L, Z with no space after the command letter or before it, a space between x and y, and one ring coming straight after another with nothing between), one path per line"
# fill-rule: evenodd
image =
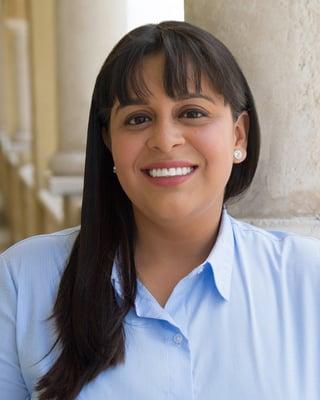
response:
M16 388L31 392L47 371L44 355L56 340L49 317L78 233L79 228L71 228L33 236L0 255L0 332L5 338L0 341L0 387L12 393L18 393ZM48 357L52 360L54 353Z

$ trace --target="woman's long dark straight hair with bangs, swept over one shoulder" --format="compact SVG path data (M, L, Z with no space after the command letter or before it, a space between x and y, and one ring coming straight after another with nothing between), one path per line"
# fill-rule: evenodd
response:
M215 37L185 22L145 25L125 35L97 77L89 117L81 230L74 243L53 310L59 356L38 382L40 400L71 400L101 371L124 362L123 320L134 305L135 222L131 202L112 172L111 152L102 132L108 131L116 99L144 96L141 62L162 52L163 84L168 96L188 93L191 75L201 91L201 75L230 105L234 119L250 117L247 158L233 167L224 201L250 185L259 157L260 133L254 100L238 64ZM114 260L122 287L117 298L111 282Z

